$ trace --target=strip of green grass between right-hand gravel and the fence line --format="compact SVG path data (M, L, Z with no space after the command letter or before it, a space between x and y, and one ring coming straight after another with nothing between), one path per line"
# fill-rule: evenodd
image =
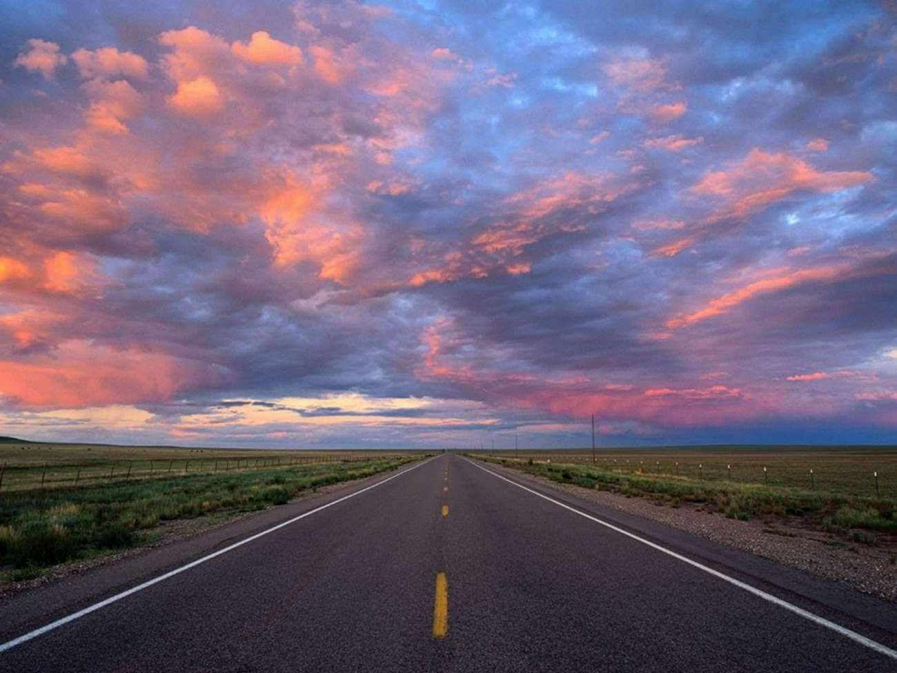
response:
M726 479L630 473L605 468L600 462L595 467L591 464L559 462L557 454L553 455L551 463L471 455L562 484L597 488L623 496L648 497L658 505L693 503L705 511L723 513L732 519L800 515L818 521L827 531L860 529L897 532L893 498L849 495L840 490L820 487L770 486ZM867 532L855 535L854 539L874 541L874 537Z

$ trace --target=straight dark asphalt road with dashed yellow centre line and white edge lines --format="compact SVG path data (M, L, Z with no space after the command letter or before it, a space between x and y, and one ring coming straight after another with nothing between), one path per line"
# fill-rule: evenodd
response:
M478 464L442 454L0 600L9 643L226 549L0 670L897 671L875 650L897 650L893 604Z

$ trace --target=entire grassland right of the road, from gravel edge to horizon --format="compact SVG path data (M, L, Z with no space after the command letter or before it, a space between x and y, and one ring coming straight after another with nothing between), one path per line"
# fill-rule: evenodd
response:
M771 453L768 447L765 451L746 448L597 452L594 463L591 452L585 451L468 454L562 484L645 497L658 505L695 504L734 519L800 516L808 525L866 543L875 543L876 535L891 539L897 533L893 477L882 479L897 468L897 450L883 447L854 453L817 448ZM818 475L815 481L810 477L811 465L814 477ZM878 472L876 494L874 482L870 485L867 477L879 466L884 469Z

